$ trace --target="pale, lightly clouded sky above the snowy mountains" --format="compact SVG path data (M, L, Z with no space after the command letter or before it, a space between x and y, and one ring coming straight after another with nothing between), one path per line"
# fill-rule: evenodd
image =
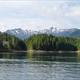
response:
M0 0L0 31L80 28L80 0Z

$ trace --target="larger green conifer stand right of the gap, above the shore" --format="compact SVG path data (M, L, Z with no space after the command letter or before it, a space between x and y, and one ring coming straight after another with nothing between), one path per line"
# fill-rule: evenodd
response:
M80 39L38 34L26 40L26 45L28 50L76 51L80 49Z

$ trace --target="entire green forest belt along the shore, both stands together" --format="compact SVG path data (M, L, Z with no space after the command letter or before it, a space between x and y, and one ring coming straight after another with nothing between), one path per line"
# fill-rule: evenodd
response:
M22 41L15 36L0 33L0 51L11 50L77 51L80 50L80 39L37 34Z

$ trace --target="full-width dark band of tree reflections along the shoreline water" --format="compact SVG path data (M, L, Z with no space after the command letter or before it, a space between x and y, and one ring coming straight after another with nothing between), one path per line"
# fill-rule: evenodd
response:
M80 53L15 52L15 53L0 53L0 58L1 59L29 59L34 61L77 62L80 61Z

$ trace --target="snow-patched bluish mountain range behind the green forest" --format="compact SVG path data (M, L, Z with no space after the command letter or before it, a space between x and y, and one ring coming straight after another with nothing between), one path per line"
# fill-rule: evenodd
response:
M80 37L80 29L59 29L51 27L49 29L43 29L40 31L22 30L20 28L7 30L5 33L18 37L21 40L29 38L33 34L52 34L54 36L64 37Z

